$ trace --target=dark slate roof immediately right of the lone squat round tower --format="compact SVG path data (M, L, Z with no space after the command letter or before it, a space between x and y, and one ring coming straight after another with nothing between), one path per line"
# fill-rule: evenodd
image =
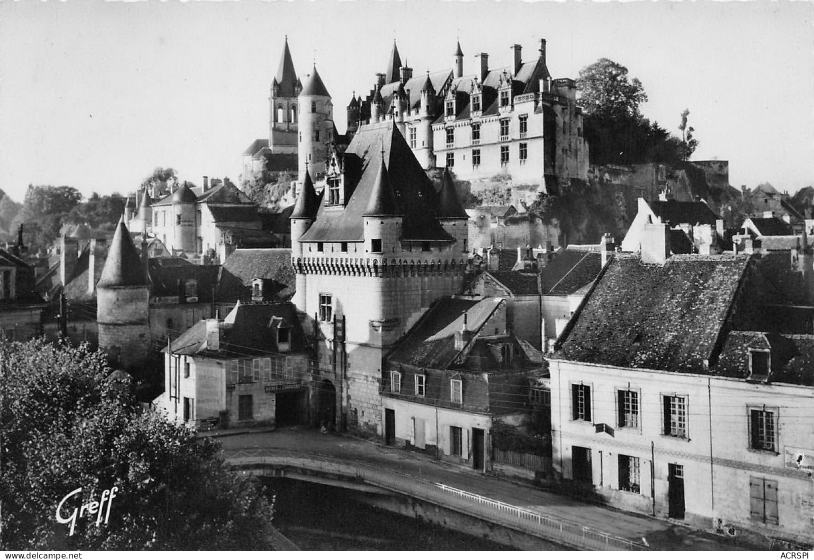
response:
M212 302L212 288L217 284L220 269L219 265L192 264L182 258L150 258L147 261L147 270L150 272L152 282L150 295L183 296L186 293L186 281L197 280L198 302Z

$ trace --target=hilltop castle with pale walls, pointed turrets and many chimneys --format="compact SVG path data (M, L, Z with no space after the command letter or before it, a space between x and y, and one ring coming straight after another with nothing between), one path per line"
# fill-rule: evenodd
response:
M488 54L480 53L476 72L465 75L458 42L451 68L413 76L394 41L374 87L365 98L352 95L347 131L339 134L316 66L298 79L286 40L271 85L269 138L243 153L243 177L264 167L293 169L295 157L300 184L306 164L321 184L333 151L341 154L362 125L392 121L425 170L447 167L468 181L510 177L548 191L587 180L588 145L575 81L552 78L545 49L541 39L536 57L524 62L522 47L513 45L512 63L498 68L489 68Z

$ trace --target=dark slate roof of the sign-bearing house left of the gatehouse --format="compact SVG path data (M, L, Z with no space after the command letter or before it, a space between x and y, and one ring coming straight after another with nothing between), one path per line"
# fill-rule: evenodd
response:
M277 336L273 325L282 322L291 328L291 351L304 348L304 334L296 318L296 310L290 303L240 303L223 319L220 349L206 348L207 323L205 320L195 323L181 336L170 343L173 354L199 355L212 358L246 358L278 354ZM166 347L164 351L166 351Z

